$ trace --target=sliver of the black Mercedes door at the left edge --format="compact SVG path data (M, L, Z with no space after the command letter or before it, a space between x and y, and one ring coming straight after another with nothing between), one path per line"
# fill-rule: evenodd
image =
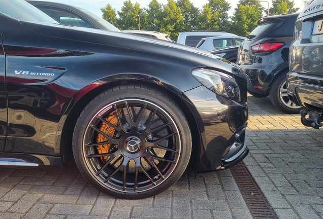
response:
M7 97L6 97L6 72L5 52L3 47L2 32L0 31L0 152L4 151L7 134Z

